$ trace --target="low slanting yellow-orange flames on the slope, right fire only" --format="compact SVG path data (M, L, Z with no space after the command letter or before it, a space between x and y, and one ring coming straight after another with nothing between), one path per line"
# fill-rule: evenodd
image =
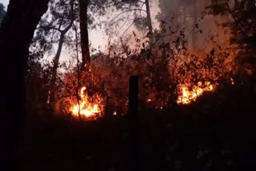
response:
M197 85L193 86L192 90L190 90L188 86L182 85L179 88L177 103L189 105L192 101L196 101L196 99L206 91L214 91L214 85L210 82L205 82L203 86L202 82L198 82Z

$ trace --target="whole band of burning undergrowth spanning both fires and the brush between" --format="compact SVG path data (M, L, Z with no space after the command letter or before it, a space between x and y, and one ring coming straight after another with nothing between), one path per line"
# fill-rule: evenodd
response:
M104 114L125 114L131 75L140 78L140 106L156 109L173 103L190 105L223 81L233 83L234 48L212 43L210 50L191 50L183 30L171 33L166 38L156 33L152 45L135 33L122 38L109 46L108 54L94 55L90 76L82 74L79 86L75 70L66 74L62 94L73 94L66 110L74 117L93 120ZM132 47L129 42L134 42Z

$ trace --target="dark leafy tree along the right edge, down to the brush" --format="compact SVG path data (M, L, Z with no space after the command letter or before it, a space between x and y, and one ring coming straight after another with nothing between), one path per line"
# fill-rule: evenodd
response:
M211 6L207 6L208 13L213 15L224 15L232 18L230 22L224 22L223 27L231 30L230 43L237 45L240 54L237 61L240 63L242 79L243 74L251 75L255 79L256 74L256 6L255 0L242 1L212 1ZM255 81L254 81L255 82Z

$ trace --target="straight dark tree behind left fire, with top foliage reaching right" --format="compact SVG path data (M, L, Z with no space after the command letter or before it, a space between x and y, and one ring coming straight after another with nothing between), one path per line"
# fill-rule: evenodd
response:
M148 2L148 1L147 1ZM88 36L88 22L92 20L90 18L89 11L96 12L99 15L106 14L107 7L114 7L117 10L127 10L132 11L134 9L129 9L130 6L136 6L138 3L142 3L137 0L130 1L108 1L108 0L98 0L98 1L89 1L89 0L79 0L79 22L80 22L80 35L81 35L81 50L82 50L82 66L81 66L81 80L84 84L86 84L86 91L89 92L90 95L95 92L93 90L94 82L91 79L91 70L90 70L90 45L89 45L89 36ZM128 4L128 5L127 5ZM145 4L143 2L142 6ZM149 9L149 4L147 6ZM138 9L137 9L138 10ZM141 10L141 9L140 9ZM127 12L126 11L126 12ZM148 13L150 14L150 13ZM150 16L148 17L150 18ZM152 30L152 25L150 21L150 28ZM79 86L79 85L78 85Z

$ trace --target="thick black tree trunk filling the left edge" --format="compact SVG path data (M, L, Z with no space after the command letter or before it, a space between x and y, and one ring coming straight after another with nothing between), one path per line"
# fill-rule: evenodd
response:
M25 117L25 71L34 30L49 0L10 0L0 28L1 156L5 170L18 168L18 145ZM15 164L14 164L15 163ZM5 167L7 166L7 168ZM16 168L16 169L17 169Z

